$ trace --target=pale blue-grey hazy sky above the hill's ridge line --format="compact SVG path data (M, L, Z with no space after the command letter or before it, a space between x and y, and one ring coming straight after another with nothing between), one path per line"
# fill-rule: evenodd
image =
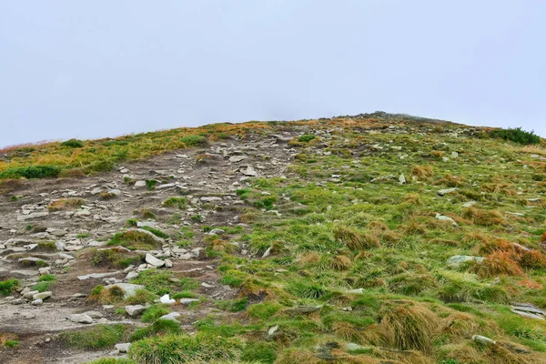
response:
M546 136L541 0L0 2L0 147L383 110Z

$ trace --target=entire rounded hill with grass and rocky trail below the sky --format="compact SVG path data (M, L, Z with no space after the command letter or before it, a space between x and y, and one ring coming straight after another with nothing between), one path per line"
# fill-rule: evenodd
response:
M0 362L546 363L545 193L383 112L5 148Z

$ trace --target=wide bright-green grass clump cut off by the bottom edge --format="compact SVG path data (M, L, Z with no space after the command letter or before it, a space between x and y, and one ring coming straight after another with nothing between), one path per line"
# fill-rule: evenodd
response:
M129 358L140 363L221 362L239 359L243 349L244 342L237 337L167 334L134 342Z

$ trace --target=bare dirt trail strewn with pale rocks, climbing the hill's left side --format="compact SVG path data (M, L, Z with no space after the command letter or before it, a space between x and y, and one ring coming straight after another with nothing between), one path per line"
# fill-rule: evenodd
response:
M9 354L0 351L0 362L67 364L100 358L112 350L117 354L114 348L84 352L66 349L55 338L65 330L97 323L143 325L137 315L120 320L113 305L99 305L87 298L97 285L133 289L130 278L144 269L167 269L194 278L201 285L197 293L213 300L236 297L234 289L219 283L217 260L205 258L200 241L206 233L199 228L194 229L197 235L187 248L177 247L171 238L156 237L162 248L137 250L146 254L147 263L125 269L94 267L85 252L88 248L106 248L108 239L120 231L147 232L140 227L169 231L238 224L243 201L235 191L246 186L248 177L282 176L293 155L286 146L292 137L286 133L265 139L229 140L129 163L95 177L28 180L17 187L20 199L0 203L0 279L17 278L22 289L0 300L0 327L3 332L16 333L22 342ZM149 181L156 184L151 190L147 188ZM188 201L184 210L163 206L167 198L182 195ZM52 208L57 201L76 199L76 207ZM211 204L217 208L207 207ZM175 212L179 221L172 225ZM151 216L156 219L146 218ZM136 227L127 227L129 219L136 221ZM165 223L167 219L171 223ZM240 254L248 254L244 245L239 248ZM56 277L51 290L33 290L38 278L51 274ZM172 311L183 316L183 328L190 332L192 323L206 316L211 305L206 302L189 311L177 302Z

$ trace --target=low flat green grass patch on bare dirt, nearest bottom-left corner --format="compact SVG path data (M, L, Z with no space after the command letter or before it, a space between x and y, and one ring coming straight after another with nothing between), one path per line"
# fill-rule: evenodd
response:
M126 329L122 324L96 325L79 331L59 334L61 342L78 349L106 349L114 347L125 338Z

